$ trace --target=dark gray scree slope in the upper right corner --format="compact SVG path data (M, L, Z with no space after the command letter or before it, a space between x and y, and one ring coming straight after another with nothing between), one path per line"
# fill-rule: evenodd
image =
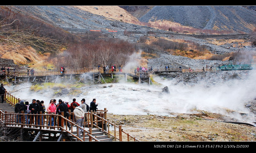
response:
M256 23L256 11L242 6L155 6L141 22L151 19L170 20L199 29L233 30L251 32Z

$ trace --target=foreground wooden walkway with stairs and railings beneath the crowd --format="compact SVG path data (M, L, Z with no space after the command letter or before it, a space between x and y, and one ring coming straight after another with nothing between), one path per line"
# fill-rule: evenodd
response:
M19 99L8 92L4 94L4 99L6 103L0 103L0 124L5 127L4 135L8 136L10 131L16 131L20 135L20 141L23 141L25 133L28 132L35 134L33 141L139 141L126 133L121 125L109 122L106 108L97 112L86 112L84 115L86 120L84 120L83 127L80 127L76 124L76 119L70 111L68 118L64 117L64 112L61 112L60 115L47 112L45 114L42 112L39 114L24 112L17 114L13 112L13 108ZM51 118L54 118L53 126L51 126ZM68 122L72 127L70 130L67 126ZM110 127L114 131L110 131ZM79 128L84 131L80 136L77 133ZM125 139L126 136L127 139Z

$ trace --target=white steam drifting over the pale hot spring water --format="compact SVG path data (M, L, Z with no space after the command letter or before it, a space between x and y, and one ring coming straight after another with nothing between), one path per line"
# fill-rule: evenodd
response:
M175 113L201 113L197 110L219 113L236 118L240 121L250 122L254 115L244 108L244 101L255 98L255 72L252 71L247 80L232 80L225 83L204 86L204 81L194 86L178 83L155 77L154 80L160 85L134 84L125 81L111 84L92 85L80 88L83 92L80 96L54 96L52 90L31 92L30 83L15 86L6 86L7 91L16 91L15 97L19 97L31 103L32 99L43 100L49 104L51 99L80 103L85 98L90 105L93 98L99 103L98 109L107 108L108 113L119 115L173 115ZM106 87L103 87L106 86ZM162 93L167 86L170 94ZM247 116L239 113L227 113L229 108L236 111L249 113Z

